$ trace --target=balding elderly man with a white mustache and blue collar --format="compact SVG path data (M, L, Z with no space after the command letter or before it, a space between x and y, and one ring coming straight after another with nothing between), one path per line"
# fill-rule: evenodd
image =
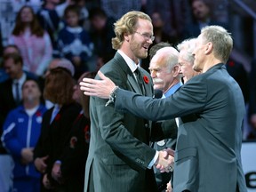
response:
M165 46L165 44L160 43ZM162 98L170 97L182 85L180 82L180 68L178 64L179 52L166 44L166 47L159 49L153 56L149 64L150 75L153 79L154 89L163 92ZM157 46L157 45L154 45ZM152 47L154 49L154 47ZM172 121L172 120L171 120ZM170 123L170 122L169 122ZM157 124L166 125L168 121L158 122ZM176 124L174 124L177 128ZM174 130L173 130L174 131ZM177 133L177 130L175 130ZM177 134L175 134L177 136ZM154 142L153 148L163 150L164 148L175 148L176 137ZM158 191L166 188L167 182L171 179L172 172L160 172L154 168Z

